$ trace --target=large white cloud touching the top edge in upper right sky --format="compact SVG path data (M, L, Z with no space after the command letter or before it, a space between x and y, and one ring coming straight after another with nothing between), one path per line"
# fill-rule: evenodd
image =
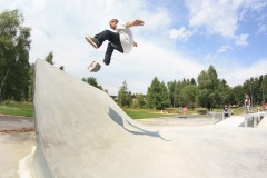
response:
M205 28L209 33L233 38L238 28L237 10L243 0L186 1L190 11L190 27Z

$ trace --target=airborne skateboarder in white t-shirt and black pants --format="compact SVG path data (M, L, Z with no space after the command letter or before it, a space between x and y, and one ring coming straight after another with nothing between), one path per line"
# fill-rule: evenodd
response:
M142 20L128 21L121 24L118 24L118 19L111 19L109 21L110 28L117 32L103 30L93 38L89 36L85 37L86 40L96 49L100 48L103 41L109 41L103 58L103 63L107 66L111 61L111 56L115 49L121 53L128 53L131 51L132 47L137 47L137 42L134 41L134 36L130 28L135 26L144 26L145 23Z

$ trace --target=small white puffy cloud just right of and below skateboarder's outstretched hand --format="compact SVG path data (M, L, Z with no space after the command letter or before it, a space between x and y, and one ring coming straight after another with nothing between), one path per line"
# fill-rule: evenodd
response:
M187 41L188 38L192 36L192 32L190 30L187 30L185 27L177 29L169 30L169 38L170 39L177 39L179 41Z

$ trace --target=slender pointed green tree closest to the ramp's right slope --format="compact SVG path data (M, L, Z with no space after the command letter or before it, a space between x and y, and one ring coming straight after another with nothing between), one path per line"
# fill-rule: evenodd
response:
M128 85L126 80L123 81L118 92L118 105L120 107L130 107L131 105L131 92L128 91Z

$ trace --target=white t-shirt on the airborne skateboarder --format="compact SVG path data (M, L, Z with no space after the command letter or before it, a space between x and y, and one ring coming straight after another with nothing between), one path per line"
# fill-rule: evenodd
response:
M134 46L134 36L130 28L127 28L125 23L117 26L117 31L120 34L120 43L123 48L123 53L131 51Z

